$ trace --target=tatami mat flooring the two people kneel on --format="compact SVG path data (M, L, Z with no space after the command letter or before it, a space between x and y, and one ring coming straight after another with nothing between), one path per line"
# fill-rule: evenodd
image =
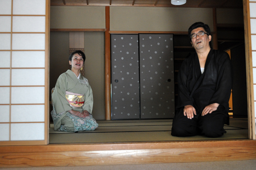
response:
M248 139L247 119L231 119L230 125L224 126L227 131L220 138L205 136L175 137L170 135L172 119L165 120L118 120L97 121L95 131L79 133L49 131L49 143L102 143L102 142L155 142L175 140L217 140Z

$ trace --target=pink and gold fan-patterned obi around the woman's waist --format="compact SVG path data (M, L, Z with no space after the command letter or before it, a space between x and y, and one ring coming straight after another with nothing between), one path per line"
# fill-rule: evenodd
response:
M81 107L84 104L84 95L66 91L66 99L74 107Z

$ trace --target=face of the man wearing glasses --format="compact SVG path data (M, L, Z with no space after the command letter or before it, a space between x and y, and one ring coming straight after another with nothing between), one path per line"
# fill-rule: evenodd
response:
M191 35L198 34L199 32L205 32L203 27L198 27L191 31ZM206 33L206 32L205 32ZM203 36L196 36L196 38L191 39L191 44L194 49L206 49L210 47L209 42L211 41L211 35L204 34Z

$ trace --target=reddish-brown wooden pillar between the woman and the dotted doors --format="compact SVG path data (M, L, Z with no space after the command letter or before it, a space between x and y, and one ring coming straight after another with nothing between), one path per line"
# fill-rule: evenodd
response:
M105 7L105 119L111 120L110 9Z

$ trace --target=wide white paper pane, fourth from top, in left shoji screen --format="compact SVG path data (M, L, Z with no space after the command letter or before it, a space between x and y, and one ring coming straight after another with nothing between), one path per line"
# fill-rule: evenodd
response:
M12 67L13 68L45 67L45 52L44 51L13 51Z

